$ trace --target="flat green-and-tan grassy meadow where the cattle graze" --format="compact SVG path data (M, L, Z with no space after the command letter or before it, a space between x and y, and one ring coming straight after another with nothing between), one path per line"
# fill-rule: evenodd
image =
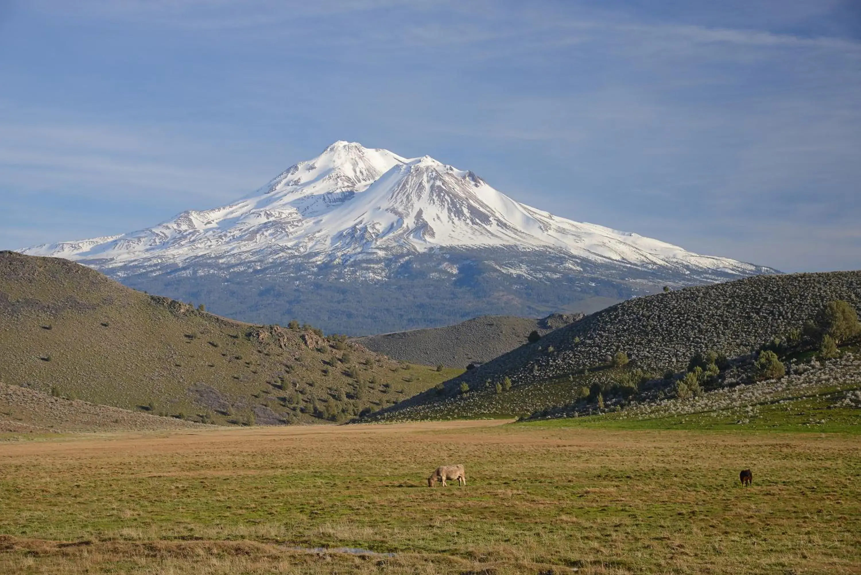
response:
M857 573L859 478L857 434L588 418L5 441L0 572Z

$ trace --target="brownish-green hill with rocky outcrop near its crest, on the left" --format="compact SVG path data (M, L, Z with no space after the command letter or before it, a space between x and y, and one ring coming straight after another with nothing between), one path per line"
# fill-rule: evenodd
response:
M310 327L226 320L65 259L0 252L0 381L195 421L340 421L457 370L400 364Z

